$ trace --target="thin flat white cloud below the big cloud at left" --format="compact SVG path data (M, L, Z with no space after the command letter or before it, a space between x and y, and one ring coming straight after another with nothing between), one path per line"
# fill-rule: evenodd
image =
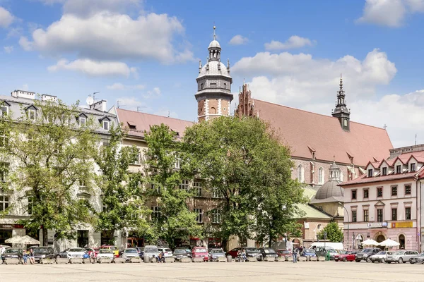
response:
M76 61L67 61L61 59L56 65L49 66L49 71L79 71L87 75L124 75L128 77L131 73L136 73L136 68L130 68L126 63L113 61L92 61L90 59L78 59Z

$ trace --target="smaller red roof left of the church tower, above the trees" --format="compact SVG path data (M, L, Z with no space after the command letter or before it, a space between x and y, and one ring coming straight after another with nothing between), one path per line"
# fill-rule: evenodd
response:
M139 111L129 111L124 109L117 109L119 122L123 123L125 128L135 126L136 128L129 128L128 135L144 137L144 132L150 130L151 125L160 125L164 123L170 127L171 130L177 132L181 137L187 127L192 126L192 121L183 121L177 118L167 118L166 116L158 116L154 114L141 113Z

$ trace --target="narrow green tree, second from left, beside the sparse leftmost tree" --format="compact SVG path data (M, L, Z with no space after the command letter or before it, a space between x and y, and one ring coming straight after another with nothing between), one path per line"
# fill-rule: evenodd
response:
M150 210L143 197L142 173L129 172L129 165L139 158L139 150L135 146L122 146L124 135L120 126L112 126L109 139L94 155L100 168L95 183L102 193L102 211L98 213L96 228L107 233L111 244L115 231L124 228L146 238L153 235L147 220Z

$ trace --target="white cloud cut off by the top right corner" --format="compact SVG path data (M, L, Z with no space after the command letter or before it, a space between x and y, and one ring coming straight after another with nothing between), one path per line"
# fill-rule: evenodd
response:
M423 0L366 0L363 16L357 22L399 27L408 13L423 12Z

